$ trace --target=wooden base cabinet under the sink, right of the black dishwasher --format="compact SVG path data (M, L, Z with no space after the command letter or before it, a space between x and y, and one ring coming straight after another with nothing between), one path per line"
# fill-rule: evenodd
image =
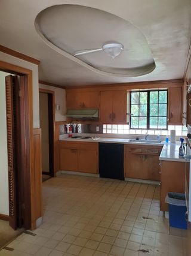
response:
M125 177L161 180L159 155L162 146L125 145Z

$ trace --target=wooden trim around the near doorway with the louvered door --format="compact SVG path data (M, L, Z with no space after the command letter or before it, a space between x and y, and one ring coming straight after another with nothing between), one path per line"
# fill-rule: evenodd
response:
M7 71L13 74L19 74L20 76L26 75L26 84L27 84L27 102L25 102L25 106L27 107L27 116L24 116L24 121L26 122L26 162L27 172L26 172L26 182L24 183L24 189L26 189L27 201L25 202L25 209L28 215L26 228L32 227L32 219L35 214L35 205L32 201L32 188L35 185L31 183L31 176L34 172L34 162L33 162L33 98L32 98L32 71L23 67L19 67L17 65L13 65L7 62L0 61L0 70Z

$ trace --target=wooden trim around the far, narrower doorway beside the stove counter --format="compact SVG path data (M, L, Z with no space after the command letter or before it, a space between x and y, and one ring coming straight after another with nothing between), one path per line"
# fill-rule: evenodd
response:
M53 108L51 110L53 115L53 171L50 171L51 176L56 176L56 130L55 130L55 94L54 91L48 90L48 89L42 89L39 88L39 92L45 93L45 94L51 94L53 97ZM49 110L48 110L49 111ZM49 125L50 121L48 120Z

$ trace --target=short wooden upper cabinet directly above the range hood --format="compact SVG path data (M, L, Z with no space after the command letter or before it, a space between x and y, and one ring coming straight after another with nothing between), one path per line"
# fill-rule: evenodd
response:
M98 109L98 92L66 92L67 109Z

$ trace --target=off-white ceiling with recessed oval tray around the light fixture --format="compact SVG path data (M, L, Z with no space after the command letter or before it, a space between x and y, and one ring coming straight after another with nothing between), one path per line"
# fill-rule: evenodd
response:
M65 4L77 7L64 14L61 25L54 19L56 16L48 13L50 19L45 16L45 22L38 23L40 29L36 31L35 19L41 11ZM83 16L78 11L79 5L91 7L93 13ZM1 0L0 34L3 46L41 61L40 80L57 85L181 79L190 46L191 4L190 0ZM64 47L57 44L60 40ZM125 46L124 55L116 57L115 62L105 59L101 53L73 57L75 50L99 48L108 40ZM138 44L148 47L142 47L142 53L136 52ZM147 63L153 58L155 69L142 76L131 73L131 68L144 66L145 56ZM119 71L120 68L125 71Z

